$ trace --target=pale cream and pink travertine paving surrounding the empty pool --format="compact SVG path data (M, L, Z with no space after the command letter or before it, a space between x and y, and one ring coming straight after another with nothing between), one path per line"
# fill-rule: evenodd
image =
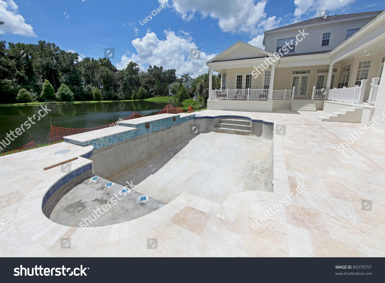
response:
M44 218L41 195L61 173L43 167L62 161L57 150L71 149L68 159L92 146L0 157L0 221L8 224L0 226L0 256L385 256L385 131L370 130L340 155L338 143L362 125L322 122L322 113L201 111L286 125L286 135L274 136L274 193L241 192L221 205L182 193L146 216L84 230ZM298 182L309 187L254 231L253 217ZM361 210L362 199L372 200L372 211ZM60 248L60 238L73 247ZM147 249L148 238L158 239L157 249Z

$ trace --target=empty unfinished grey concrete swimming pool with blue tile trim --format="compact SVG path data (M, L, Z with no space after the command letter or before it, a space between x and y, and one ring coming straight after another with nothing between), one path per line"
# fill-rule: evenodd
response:
M168 119L174 123L175 116L157 115L132 119L127 121L128 131L135 129L132 126L143 125L148 121L157 121L159 125L159 122L163 123L162 120ZM199 118L172 126L166 122L159 130L127 140L114 140L110 145L93 150L92 155L87 156L94 161L92 172L102 177L106 177L106 172L114 172L108 176L109 180L101 179L105 184L115 182L118 187L120 184L120 188L115 190L116 193L120 191L121 197L112 195L112 189L106 188L105 184L100 183L100 179L97 180L99 186L96 186L94 182L90 182L90 176L82 176L81 182L78 178L77 182L62 187L47 199L43 208L45 215L52 221L67 226L79 227L80 223L81 227L85 227L84 222L90 227L104 226L144 216L176 199L183 192L221 206L229 197L239 192L273 189L270 184L272 174L269 174L273 156L271 133L263 134L263 127L259 125L254 125L256 129L248 136L218 133L205 127L206 123L210 126L209 119L212 117ZM220 118L223 117L213 119ZM201 131L190 135L191 125L198 125ZM150 130L152 126L149 126ZM126 129L124 126L115 127L107 135L119 135ZM95 135L100 137L100 130L95 132L67 136L65 140L84 142ZM117 152L119 158L116 158ZM103 170L98 168L98 164L103 166ZM104 164L114 164L114 167L105 168ZM134 186L127 197L122 197L121 194L122 189L125 189L122 187L124 185L129 189ZM147 195L150 199L146 202L147 205L137 201L140 195ZM108 210L107 201L110 199L114 201L114 206L118 205L103 213L100 206L104 205ZM123 200L117 202L116 199ZM148 205L150 203L152 205ZM111 206L109 203L108 205ZM198 204L194 207L198 208ZM99 214L104 214L102 217L98 214L98 209ZM100 218L96 219L96 215Z

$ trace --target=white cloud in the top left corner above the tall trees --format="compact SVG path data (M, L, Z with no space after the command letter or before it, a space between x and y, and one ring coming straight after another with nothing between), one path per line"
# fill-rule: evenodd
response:
M28 37L36 37L31 25L25 23L22 15L18 13L18 7L12 0L0 1L0 20L4 22L0 25L0 34L11 32Z

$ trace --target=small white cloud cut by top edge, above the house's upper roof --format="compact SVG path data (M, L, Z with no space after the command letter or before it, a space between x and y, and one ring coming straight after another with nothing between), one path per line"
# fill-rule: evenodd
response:
M330 10L330 12L341 10L344 11L357 0L343 0L342 2L336 0L294 0L296 6L294 16L299 18L303 14L314 12L314 16L318 17L318 10Z

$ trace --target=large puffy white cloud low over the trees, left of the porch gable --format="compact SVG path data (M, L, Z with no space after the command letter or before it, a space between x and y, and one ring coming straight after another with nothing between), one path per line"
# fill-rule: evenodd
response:
M196 77L208 71L205 63L215 54L201 52L200 59L190 59L190 48L198 48L191 36L186 32L177 36L171 30L165 30L164 33L165 40L159 40L154 32L147 32L141 39L132 40L137 54L127 52L116 67L124 69L133 61L139 64L141 70L147 69L148 64L162 66L164 69L176 69L177 76L188 73L191 77Z

